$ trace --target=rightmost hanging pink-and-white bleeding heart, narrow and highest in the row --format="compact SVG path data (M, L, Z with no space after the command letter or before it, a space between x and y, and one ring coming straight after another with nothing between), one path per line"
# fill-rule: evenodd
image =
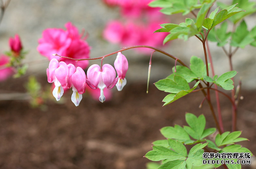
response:
M116 88L118 91L121 91L123 87L126 85L125 75L128 70L128 61L126 57L121 53L118 52L115 60L115 69L118 75L118 81L116 83Z

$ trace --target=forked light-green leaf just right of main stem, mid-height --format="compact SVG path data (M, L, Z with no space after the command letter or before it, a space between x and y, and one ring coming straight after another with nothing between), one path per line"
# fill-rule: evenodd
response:
M232 78L236 74L236 71L226 72L223 75L220 75L214 83L221 86L225 90L232 90L234 86L233 80L231 80L230 78Z

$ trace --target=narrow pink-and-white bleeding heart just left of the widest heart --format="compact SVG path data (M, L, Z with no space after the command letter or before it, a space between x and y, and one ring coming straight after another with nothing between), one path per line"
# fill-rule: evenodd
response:
M84 70L80 67L77 67L71 79L73 84L73 94L71 96L71 100L75 104L75 106L78 106L80 101L82 100L82 94L85 93L86 88L86 75Z

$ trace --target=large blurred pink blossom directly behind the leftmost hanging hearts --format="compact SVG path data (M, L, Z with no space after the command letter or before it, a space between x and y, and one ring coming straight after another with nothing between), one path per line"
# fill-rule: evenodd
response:
M91 47L83 39L78 29L72 25L71 22L65 24L67 30L48 28L43 32L43 37L39 39L39 45L37 50L43 56L46 56L49 60L52 58L59 59L59 56L52 56L52 54L58 54L60 56L66 56L71 58L89 58ZM76 65L75 60L61 58L61 61L67 64ZM89 64L88 60L79 61L77 66L85 69Z

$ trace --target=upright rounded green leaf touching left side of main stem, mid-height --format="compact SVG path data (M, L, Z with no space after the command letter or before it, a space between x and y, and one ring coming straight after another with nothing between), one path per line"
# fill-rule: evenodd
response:
M203 77L205 64L203 60L197 56L190 58L190 69L199 78Z

